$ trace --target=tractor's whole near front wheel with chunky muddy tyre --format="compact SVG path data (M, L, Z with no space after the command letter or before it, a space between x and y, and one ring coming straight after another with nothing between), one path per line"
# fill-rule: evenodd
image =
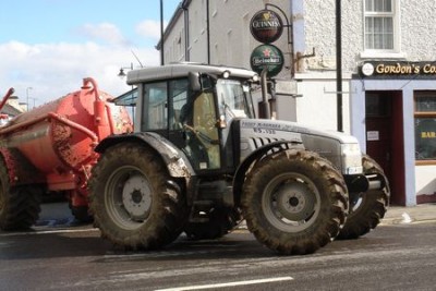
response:
M314 253L336 238L346 221L342 175L317 154L286 150L253 166L243 187L249 230L286 255Z

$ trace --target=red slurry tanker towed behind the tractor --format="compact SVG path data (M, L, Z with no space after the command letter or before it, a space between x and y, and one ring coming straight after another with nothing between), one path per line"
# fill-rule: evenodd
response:
M0 109L12 95L11 88ZM87 181L97 161L94 147L110 134L133 131L123 107L83 80L81 90L35 108L0 129L0 228L28 228L39 214L39 197L66 194L73 215L85 220Z

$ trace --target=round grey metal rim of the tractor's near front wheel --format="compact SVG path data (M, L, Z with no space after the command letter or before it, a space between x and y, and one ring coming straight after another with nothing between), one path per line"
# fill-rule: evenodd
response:
M311 227L318 217L320 195L307 177L283 173L265 187L262 207L274 227L286 232L299 232Z

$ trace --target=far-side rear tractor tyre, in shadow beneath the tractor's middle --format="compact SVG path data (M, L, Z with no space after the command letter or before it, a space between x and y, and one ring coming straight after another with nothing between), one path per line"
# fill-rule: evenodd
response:
M214 240L229 233L242 217L235 208L216 208L208 215L207 222L190 222L184 232L191 240Z

